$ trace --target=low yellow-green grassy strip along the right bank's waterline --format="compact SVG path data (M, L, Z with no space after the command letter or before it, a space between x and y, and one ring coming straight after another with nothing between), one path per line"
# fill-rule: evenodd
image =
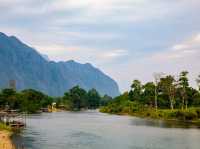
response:
M157 111L155 109L143 109L138 111L124 109L115 111L109 107L102 107L100 112L117 115L129 115L147 119L178 121L182 123L190 123L191 125L200 127L200 108L189 108L187 110L159 109Z

